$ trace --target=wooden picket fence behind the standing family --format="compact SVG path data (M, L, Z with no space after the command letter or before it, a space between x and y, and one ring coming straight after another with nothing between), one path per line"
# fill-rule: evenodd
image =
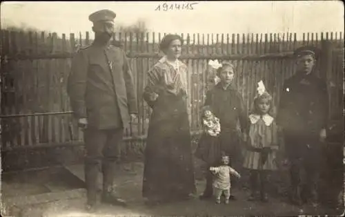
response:
M181 60L188 66L188 91L191 105L191 129L198 132L199 109L212 84L214 71L210 59L228 59L236 68L235 86L249 110L257 82L263 80L277 105L284 79L293 75L295 48L310 44L331 53L326 63L317 62L320 75L330 84L333 113L342 108L344 72L344 33L248 35L181 35L184 38ZM146 73L161 57L159 41L164 34L115 33L130 59L139 105L139 123L126 129L126 140L144 140L150 109L142 99ZM193 43L192 43L192 42ZM62 34L45 32L9 32L1 30L1 148L17 149L81 143L83 138L72 119L66 93L66 80L73 53L79 46L92 43L90 33ZM324 52L325 53L325 52ZM331 56L331 57L330 57ZM330 60L331 58L331 60ZM330 62L331 61L331 62ZM326 72L325 72L326 70ZM342 109L340 109L340 113Z

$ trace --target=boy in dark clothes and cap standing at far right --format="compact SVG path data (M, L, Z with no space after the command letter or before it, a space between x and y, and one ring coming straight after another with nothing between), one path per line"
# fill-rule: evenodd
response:
M297 73L284 82L277 114L290 162L291 200L314 207L328 120L326 81L315 75L318 56L319 50L311 46L295 50Z

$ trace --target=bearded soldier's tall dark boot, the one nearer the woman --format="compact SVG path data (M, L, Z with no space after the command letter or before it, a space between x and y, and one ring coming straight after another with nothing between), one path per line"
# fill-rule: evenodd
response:
M113 188L116 165L117 162L115 161L103 163L103 192L101 195L101 202L126 207L126 201L119 198Z

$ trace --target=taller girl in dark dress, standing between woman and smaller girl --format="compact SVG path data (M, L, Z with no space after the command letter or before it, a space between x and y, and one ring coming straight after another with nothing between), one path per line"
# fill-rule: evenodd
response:
M234 66L229 62L222 62L221 66L217 68L217 76L220 81L206 94L205 106L210 106L214 115L219 118L221 133L219 135L219 142L221 144L221 152L230 157L230 166L239 169L241 167L242 150L239 147L240 138L237 133L237 121L242 131L243 139L246 140L248 131L248 116L242 96L233 86L233 79L235 77ZM220 159L219 156L218 159ZM208 165L212 167L214 164ZM235 164L235 165L233 165ZM200 199L212 198L212 173L208 173L206 177L206 189ZM230 199L234 199L233 196Z

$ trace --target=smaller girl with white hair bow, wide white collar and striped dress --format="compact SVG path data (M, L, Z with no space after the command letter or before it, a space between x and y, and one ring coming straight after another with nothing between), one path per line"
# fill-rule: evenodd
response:
M275 164L278 150L277 125L270 115L273 109L272 97L259 82L254 99L253 113L249 115L250 127L247 140L244 168L250 170L251 194L248 200L260 198L268 201L267 173L277 169Z

